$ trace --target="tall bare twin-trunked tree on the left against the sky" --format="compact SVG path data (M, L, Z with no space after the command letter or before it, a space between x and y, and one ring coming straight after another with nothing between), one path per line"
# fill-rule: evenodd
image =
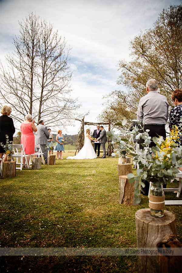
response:
M70 97L72 72L65 38L53 31L53 25L30 13L19 22L20 35L14 50L1 64L1 99L15 110L14 119L24 120L27 113L49 126L69 123L76 110Z

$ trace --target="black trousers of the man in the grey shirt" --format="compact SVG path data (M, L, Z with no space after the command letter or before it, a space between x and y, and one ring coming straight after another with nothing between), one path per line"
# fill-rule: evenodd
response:
M165 124L145 124L144 125L144 131L149 129L150 132L148 132L149 136L151 136L151 138L153 138L154 136L163 136L163 138L166 138L166 129L165 129ZM143 130L140 131L140 133L142 133ZM140 138L139 140L140 143L140 149L143 150L143 146L141 145L141 143L144 143L144 139ZM154 142L150 143L150 148L156 146L156 144ZM144 194L148 195L149 193L149 182L147 180L142 180L145 183L145 187L143 188ZM163 188L166 188L166 184L163 184Z

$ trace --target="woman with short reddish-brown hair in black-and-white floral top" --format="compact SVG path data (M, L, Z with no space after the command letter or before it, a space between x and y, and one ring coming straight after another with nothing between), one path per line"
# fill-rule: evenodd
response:
M176 89L173 91L172 100L175 107L171 109L169 116L169 129L173 129L173 126L176 125L182 134L182 89ZM182 136L180 136L179 144L182 146Z

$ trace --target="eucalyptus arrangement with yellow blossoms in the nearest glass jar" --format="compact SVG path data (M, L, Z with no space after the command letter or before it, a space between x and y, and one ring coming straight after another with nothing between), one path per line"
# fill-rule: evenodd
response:
M140 122L138 122L140 124ZM167 184L170 180L175 179L175 175L179 173L177 168L182 167L182 147L177 151L174 148L177 147L176 141L179 138L179 131L177 127L172 130L169 138L166 140L160 137L153 137L153 142L156 144L155 147L150 148L151 137L149 136L149 130L142 133L140 131L143 127L140 125L140 129L136 126L133 127L132 133L136 134L136 139L140 137L144 140L142 143L143 150L140 150L139 154L133 153L135 151L132 136L129 140L121 139L120 136L114 134L113 130L107 132L107 135L112 139L112 143L120 143L125 150L134 157L134 161L139 165L137 169L137 175L128 174L130 183L134 183L134 195L135 203L140 203L140 192L141 186L145 187L142 180L151 181L155 184ZM115 154L112 154L114 156Z

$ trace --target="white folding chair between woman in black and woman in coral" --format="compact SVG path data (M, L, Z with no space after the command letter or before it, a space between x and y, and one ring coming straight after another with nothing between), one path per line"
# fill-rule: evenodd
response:
M18 149L21 149L21 153L19 153ZM25 165L29 169L29 163L25 155L23 144L14 144L14 154L12 155L12 159L14 160L14 158L16 158L16 170L22 170L22 166ZM23 158L25 158L25 163L23 163ZM17 165L20 165L20 167Z

